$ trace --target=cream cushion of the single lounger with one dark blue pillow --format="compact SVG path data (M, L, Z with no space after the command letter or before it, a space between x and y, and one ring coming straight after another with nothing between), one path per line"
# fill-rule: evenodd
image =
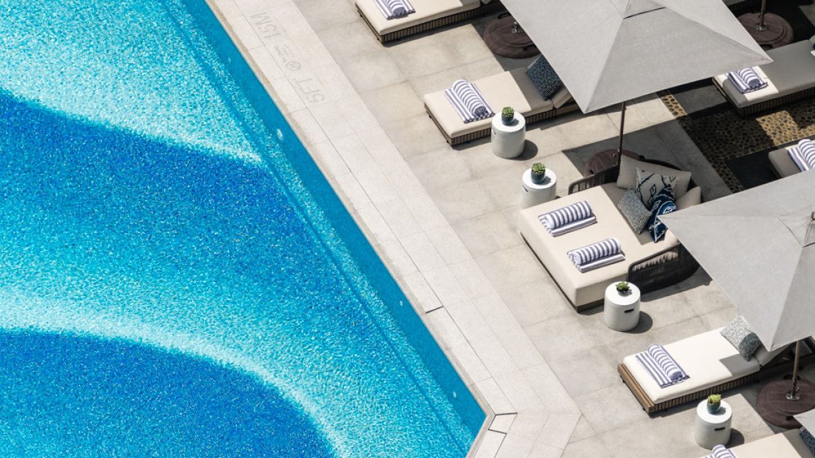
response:
M526 68L515 68L509 72L470 82L478 87L492 111L496 113L500 113L503 107L513 107L523 116L531 116L549 111L553 107L561 107L571 99L571 94L565 86L557 89L551 100L541 98L538 89L535 89L529 76L526 76ZM489 129L492 123L492 118L487 118L465 124L456 113L456 109L444 97L443 90L425 95L424 100L438 125L451 138Z

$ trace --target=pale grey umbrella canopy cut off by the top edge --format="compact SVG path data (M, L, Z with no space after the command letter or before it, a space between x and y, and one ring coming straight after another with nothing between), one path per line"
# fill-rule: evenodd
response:
M584 112L772 59L721 0L502 0Z

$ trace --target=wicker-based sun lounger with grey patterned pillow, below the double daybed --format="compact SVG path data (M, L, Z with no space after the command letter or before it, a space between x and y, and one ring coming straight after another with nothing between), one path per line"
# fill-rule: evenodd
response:
M789 351L786 351L790 347L776 351L760 347L748 361L722 337L720 330L713 329L664 346L688 374L684 382L660 388L637 362L636 355L626 356L617 371L642 408L653 413L791 369ZM804 358L809 360L813 349L810 342L806 346L808 354Z

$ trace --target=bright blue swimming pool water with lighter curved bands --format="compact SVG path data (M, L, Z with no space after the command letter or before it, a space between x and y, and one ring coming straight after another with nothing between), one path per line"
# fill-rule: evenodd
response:
M203 0L0 9L0 456L464 456L484 413Z

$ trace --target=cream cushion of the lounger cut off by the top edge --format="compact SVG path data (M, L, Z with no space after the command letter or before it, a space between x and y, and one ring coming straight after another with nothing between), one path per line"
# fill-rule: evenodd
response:
M368 19L380 35L396 32L403 28L425 24L461 11L474 10L481 4L479 0L411 0L415 13L406 17L386 20L373 0L356 0L359 11Z

